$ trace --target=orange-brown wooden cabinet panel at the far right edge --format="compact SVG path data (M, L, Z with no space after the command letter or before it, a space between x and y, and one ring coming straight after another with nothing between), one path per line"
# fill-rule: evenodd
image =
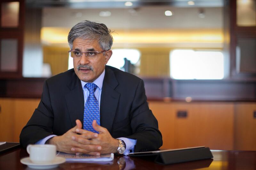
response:
M235 149L256 151L256 103L235 104Z

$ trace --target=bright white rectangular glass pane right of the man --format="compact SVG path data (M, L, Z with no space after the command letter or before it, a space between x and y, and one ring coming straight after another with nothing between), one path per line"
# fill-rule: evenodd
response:
M224 57L220 51L173 50L170 73L173 79L223 79Z

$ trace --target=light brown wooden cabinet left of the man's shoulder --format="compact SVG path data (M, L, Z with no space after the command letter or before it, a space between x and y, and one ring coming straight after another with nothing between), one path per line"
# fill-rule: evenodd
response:
M30 119L39 101L39 99L0 99L0 141L20 141L20 131Z

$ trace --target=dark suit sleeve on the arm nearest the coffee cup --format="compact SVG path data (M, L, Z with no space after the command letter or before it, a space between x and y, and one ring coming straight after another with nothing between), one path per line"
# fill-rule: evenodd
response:
M28 144L35 144L37 141L52 135L53 112L47 81L44 82L41 101L28 121L21 130L20 144L27 147Z

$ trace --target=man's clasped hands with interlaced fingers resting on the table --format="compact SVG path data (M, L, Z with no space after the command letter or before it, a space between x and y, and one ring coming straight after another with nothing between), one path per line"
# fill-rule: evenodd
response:
M75 154L97 155L105 153L116 153L119 142L113 138L108 129L92 122L92 127L99 132L93 133L82 129L80 120L76 120L76 126L61 136L50 138L46 143L54 144L57 151Z

